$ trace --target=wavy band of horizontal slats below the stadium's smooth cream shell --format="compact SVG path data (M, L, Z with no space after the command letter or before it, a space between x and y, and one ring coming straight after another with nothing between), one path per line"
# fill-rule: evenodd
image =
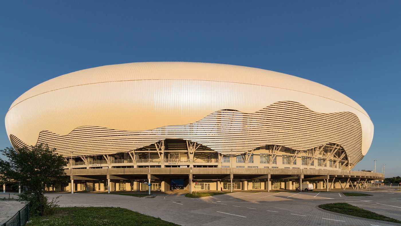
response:
M362 130L350 112L322 114L292 101L276 102L255 113L220 110L186 125L146 131L121 131L81 126L60 136L42 131L39 143L47 143L61 155L105 155L135 150L164 139L184 139L222 154L241 154L263 145L282 145L304 151L328 143L341 145L355 165L361 154ZM10 137L14 147L23 143Z

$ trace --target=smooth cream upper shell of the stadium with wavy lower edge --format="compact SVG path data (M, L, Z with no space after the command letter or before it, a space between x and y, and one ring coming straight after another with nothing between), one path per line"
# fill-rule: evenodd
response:
M354 113L362 127L361 153L369 150L373 123L344 94L292 75L214 63L126 63L61 75L22 94L5 122L9 136L35 145L43 130L60 135L79 126L152 130L190 124L223 109L253 113L280 101L319 113Z

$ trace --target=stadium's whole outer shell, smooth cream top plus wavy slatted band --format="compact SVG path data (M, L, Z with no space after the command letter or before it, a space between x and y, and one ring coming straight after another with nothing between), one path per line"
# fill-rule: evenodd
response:
M109 65L46 81L6 115L14 147L47 143L66 157L135 151L182 139L239 155L266 145L307 151L336 144L352 166L373 124L354 101L273 71L207 63Z

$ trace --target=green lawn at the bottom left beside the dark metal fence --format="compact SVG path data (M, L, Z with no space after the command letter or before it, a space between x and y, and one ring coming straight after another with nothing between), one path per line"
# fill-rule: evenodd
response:
M31 217L27 226L105 226L105 225L160 225L176 226L172 222L161 220L115 207L60 207L51 216Z

